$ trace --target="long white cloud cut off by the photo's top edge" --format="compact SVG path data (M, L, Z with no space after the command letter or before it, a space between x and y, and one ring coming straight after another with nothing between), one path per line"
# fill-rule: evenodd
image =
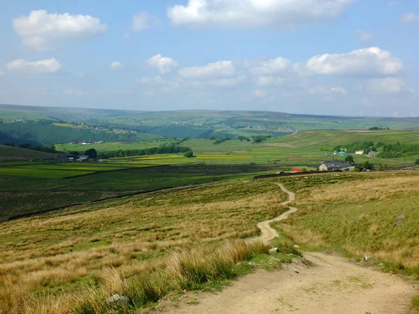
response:
M344 15L355 0L189 0L172 6L173 25L300 27Z

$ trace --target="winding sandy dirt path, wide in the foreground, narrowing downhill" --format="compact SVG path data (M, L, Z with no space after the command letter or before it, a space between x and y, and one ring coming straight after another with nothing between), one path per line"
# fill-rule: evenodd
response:
M288 204L294 193L288 193ZM260 239L269 242L277 236L272 221L287 218L297 209L259 223ZM196 294L197 305L182 305L170 313L330 313L406 314L418 288L402 278L353 264L343 257L306 253L314 267L302 263L279 271L258 270L244 276L218 294Z

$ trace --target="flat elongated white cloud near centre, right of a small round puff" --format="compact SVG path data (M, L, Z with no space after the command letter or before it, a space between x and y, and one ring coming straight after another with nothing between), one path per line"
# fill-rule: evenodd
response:
M206 66L193 66L182 68L179 75L187 79L205 80L216 77L230 77L235 75L235 66L232 61L219 61Z

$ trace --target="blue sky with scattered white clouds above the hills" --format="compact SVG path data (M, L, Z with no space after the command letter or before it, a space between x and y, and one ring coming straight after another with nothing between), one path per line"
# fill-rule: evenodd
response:
M1 0L0 103L419 117L417 0Z

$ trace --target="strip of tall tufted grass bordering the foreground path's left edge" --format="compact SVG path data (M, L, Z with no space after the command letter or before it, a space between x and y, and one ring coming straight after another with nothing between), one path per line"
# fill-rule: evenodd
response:
M99 284L79 292L30 298L18 313L136 313L138 308L159 301L168 292L182 292L237 276L237 262L267 253L259 241L230 241L224 246L177 251L155 271L127 278L112 267L98 273ZM122 301L110 302L118 294Z

